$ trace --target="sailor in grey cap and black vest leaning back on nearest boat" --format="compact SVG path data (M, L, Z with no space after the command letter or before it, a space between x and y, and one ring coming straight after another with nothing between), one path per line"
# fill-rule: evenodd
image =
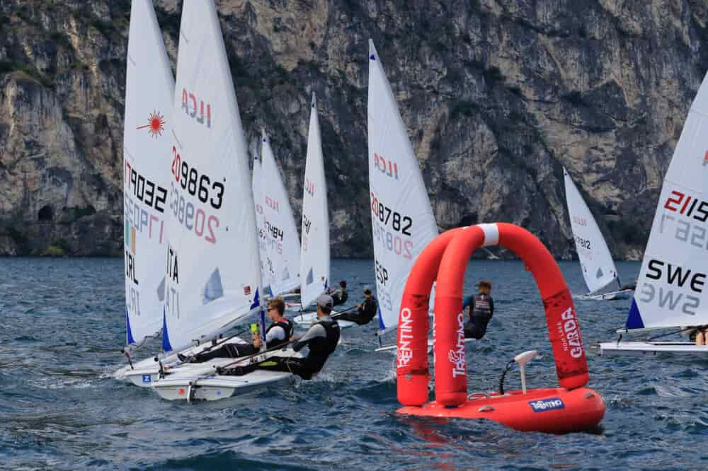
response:
M308 347L309 351L304 358L271 356L264 361L248 366L236 366L226 370L217 368L217 373L242 376L256 369L261 369L288 371L304 380L312 379L312 376L319 373L329 356L333 354L339 342L339 325L329 316L333 304L332 296L329 294L323 294L317 298L317 321L292 346L295 351Z

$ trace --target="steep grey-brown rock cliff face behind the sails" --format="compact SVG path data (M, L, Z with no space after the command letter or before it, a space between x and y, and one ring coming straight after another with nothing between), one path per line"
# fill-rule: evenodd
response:
M181 1L156 2L173 61ZM333 256L370 257L367 40L441 229L509 221L574 246L566 166L617 258L641 257L708 69L699 0L217 1L251 149L267 127L302 202L319 97ZM0 254L122 252L130 1L0 2ZM501 254L508 255L508 254Z

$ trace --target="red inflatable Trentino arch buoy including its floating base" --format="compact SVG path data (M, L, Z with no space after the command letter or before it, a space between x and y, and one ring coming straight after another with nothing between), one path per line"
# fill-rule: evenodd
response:
M532 272L560 388L467 397L462 289L476 248L501 245ZM428 401L428 302L435 288L435 401ZM534 328L535 326L529 326ZM588 362L573 298L556 261L530 232L508 223L479 224L440 234L416 258L406 281L398 323L396 378L401 414L489 419L520 431L593 429L605 414L598 392L586 388ZM532 353L529 351L527 353Z

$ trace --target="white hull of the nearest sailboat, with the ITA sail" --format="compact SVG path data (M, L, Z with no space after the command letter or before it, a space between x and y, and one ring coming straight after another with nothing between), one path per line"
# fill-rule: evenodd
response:
M259 356L253 361L262 361L268 356L302 355L292 349L273 351ZM244 364L249 364L244 360ZM216 366L233 364L232 359L223 359L201 364L199 368L180 368L164 379L156 380L152 389L165 400L206 400L215 401L227 397L241 396L263 388L292 383L295 378L292 373L282 371L256 370L244 376L225 376L216 373Z

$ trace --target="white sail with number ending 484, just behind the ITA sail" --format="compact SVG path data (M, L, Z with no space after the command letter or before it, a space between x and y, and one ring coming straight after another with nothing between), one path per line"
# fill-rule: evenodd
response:
M265 203L264 279L268 280L270 293L278 296L300 286L300 242L290 199L280 178L280 170L275 163L275 156L265 131L261 144L261 191Z

